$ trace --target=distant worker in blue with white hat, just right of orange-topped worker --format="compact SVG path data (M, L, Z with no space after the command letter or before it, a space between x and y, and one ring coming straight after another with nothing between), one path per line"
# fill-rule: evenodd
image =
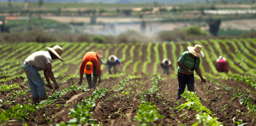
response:
M108 73L111 74L111 67L113 66L114 68L114 74L117 73L117 69L116 69L116 65L120 65L121 67L122 66L122 63L120 62L120 60L115 56L115 55L110 55L108 57L108 61L107 61L107 65L108 65Z

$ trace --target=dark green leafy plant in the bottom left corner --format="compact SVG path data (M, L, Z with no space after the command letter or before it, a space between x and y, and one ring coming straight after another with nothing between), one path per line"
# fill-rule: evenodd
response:
M15 106L11 106L8 110L4 110L0 114L0 122L4 125L6 121L9 119L17 119L19 122L24 123L24 119L29 119L29 113L35 113L36 106L35 104L17 104Z

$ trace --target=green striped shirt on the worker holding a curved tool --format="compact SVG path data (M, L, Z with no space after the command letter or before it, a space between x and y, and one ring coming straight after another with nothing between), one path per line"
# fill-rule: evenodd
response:
M195 58L190 56L189 51L183 52L181 54L178 62L182 63L186 68L188 68L191 73L194 72L194 70L192 70L192 69L194 68ZM197 58L195 70L199 70L199 69L201 69L200 68L200 58ZM187 73L186 70L180 66L178 67L177 71L182 72L182 73Z

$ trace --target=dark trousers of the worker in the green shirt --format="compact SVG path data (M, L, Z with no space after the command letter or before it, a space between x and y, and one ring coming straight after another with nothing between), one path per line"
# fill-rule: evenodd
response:
M178 72L178 82L179 82L179 88L178 88L178 95L177 99L180 99L180 95L184 92L186 84L187 84L187 90L190 92L195 92L195 78L194 73L193 74L182 74Z

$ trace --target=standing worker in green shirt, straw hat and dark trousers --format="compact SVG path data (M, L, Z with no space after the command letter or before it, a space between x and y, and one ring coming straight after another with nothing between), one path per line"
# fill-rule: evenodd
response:
M190 92L195 92L195 79L194 70L197 72L198 76L202 81L206 82L201 74L200 70L200 58L204 57L204 53L201 51L200 45L195 45L194 47L187 47L189 51L185 51L181 54L178 59L178 95L177 100L180 99L180 95L184 92L186 84L187 90Z

